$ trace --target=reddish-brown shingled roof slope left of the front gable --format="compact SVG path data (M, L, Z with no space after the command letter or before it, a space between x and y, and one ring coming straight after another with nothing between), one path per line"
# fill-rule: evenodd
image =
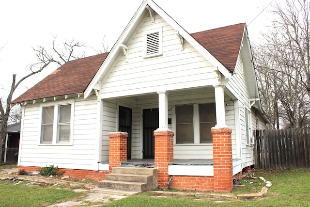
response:
M63 64L12 103L83 93L107 55L93 55Z

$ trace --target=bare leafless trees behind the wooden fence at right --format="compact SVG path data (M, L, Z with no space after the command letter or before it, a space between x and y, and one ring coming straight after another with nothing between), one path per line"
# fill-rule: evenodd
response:
M310 116L309 0L276 4L273 28L254 45L254 61L262 107L279 128L304 127Z

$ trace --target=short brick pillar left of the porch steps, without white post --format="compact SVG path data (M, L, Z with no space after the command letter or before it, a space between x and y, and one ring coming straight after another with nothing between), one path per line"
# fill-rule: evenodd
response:
M109 171L127 161L127 138L126 132L109 133Z

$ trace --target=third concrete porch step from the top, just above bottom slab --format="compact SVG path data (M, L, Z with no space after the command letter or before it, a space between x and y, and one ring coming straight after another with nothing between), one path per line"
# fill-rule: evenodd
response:
M107 188L107 189L125 190L125 191L140 191L140 192L148 190L147 183L126 182L126 181L117 181L117 180L99 181L98 187Z

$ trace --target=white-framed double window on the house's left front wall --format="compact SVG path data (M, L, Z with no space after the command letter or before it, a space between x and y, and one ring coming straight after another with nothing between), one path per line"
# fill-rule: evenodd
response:
M40 143L70 143L72 103L42 107Z

